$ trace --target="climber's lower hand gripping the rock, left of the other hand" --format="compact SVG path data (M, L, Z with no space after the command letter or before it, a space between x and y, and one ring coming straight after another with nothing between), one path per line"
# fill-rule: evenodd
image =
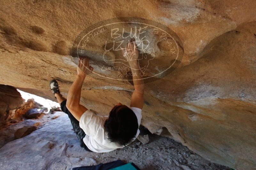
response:
M91 74L93 71L93 67L89 65L89 59L86 58L79 58L78 66L77 66L77 75L86 77L86 75Z

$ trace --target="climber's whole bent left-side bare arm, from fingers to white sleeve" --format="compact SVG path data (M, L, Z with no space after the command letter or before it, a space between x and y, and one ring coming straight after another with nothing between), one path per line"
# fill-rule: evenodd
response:
M88 58L79 59L76 79L68 91L66 107L78 121L80 121L82 114L88 110L79 103L83 81L92 70L93 68L89 66Z

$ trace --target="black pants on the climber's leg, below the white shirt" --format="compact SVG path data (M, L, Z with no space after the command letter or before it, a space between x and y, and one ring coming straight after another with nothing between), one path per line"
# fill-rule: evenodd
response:
M85 134L84 131L80 128L80 126L79 126L79 121L76 120L76 118L75 118L75 117L70 113L70 111L67 109L67 107L66 107L66 102L67 102L67 100L64 100L63 102L60 103L60 108L61 108L61 110L62 110L63 112L65 112L65 113L68 115L68 117L69 117L69 119L70 119L70 122L71 122L71 124L72 124L72 126L73 126L73 129L74 129L74 131L75 131L75 134L76 134L76 136L77 136L77 138L78 138L78 140L79 140L79 142L80 142L80 146L81 146L82 148L84 148L86 151L92 152L92 151L89 150L89 148L84 144L83 138L85 137L86 134Z

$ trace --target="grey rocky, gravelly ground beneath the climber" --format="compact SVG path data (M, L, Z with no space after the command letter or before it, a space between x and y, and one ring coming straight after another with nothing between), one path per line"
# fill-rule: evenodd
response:
M13 140L16 129L36 122L41 122L38 130ZM117 159L133 162L143 170L230 169L211 163L182 144L158 135L150 135L150 143L146 145L136 140L112 152L87 152L79 146L69 118L63 112L45 115L42 119L25 120L2 129L0 133L1 145L4 145L0 148L0 166L3 169L71 169Z

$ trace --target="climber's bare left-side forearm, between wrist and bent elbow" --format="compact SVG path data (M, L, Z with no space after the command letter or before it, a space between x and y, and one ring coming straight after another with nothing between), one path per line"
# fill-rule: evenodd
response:
M81 89L85 76L77 75L75 81L71 85L67 95L67 108L75 108L79 106Z

